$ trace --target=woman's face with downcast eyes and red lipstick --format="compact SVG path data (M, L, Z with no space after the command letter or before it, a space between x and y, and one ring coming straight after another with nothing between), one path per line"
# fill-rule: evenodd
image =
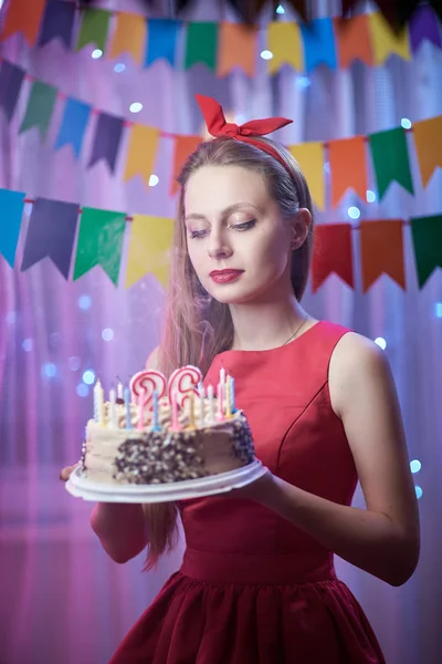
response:
M199 168L186 186L185 219L193 269L215 300L257 302L292 292L293 219L283 219L257 173Z

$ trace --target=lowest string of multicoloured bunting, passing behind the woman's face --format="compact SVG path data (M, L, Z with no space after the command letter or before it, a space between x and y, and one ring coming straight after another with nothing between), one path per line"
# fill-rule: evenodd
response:
M49 258L64 279L80 279L101 266L115 286L122 270L125 232L129 234L125 288L147 273L167 286L169 250L173 220L150 215L84 207L76 203L29 199L22 191L0 189L0 256L11 268L17 263L17 249L22 231L23 206L32 204L27 230L23 230L25 271ZM126 222L130 221L129 227ZM423 288L432 272L442 268L442 214L403 219L360 221L359 258L362 290L367 291L381 274L388 274L406 289L403 227L411 227L419 287ZM354 231L350 224L322 224L315 230L312 263L312 288L315 292L336 273L355 288Z

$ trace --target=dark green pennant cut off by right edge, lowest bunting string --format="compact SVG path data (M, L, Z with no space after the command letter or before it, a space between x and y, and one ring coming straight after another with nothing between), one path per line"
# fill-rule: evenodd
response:
M415 268L422 288L435 268L442 268L442 215L411 219Z

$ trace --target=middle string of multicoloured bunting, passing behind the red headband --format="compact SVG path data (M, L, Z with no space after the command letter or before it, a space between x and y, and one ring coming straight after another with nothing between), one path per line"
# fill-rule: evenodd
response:
M14 115L25 81L29 83L29 95L19 126L20 134L36 128L41 138L45 139L59 98L64 107L55 137L55 151L71 145L75 157L78 158L88 123L94 122L87 167L91 168L103 160L114 174L123 145L127 145L124 181L139 176L148 186L157 154L161 149L161 139L172 141L170 195L173 196L178 191L177 175L188 155L203 139L202 136L171 134L156 127L127 122L122 116L105 113L66 96L53 85L33 79L17 64L2 60L0 110L3 110L9 122ZM127 142L123 141L124 132L129 132ZM434 170L442 167L442 116L413 123L410 133L412 142L407 139L407 131L399 126L368 136L308 142L287 147L307 177L315 205L325 209L327 203L335 208L348 189L352 189L361 200L366 199L369 189L369 158L372 160L380 199L392 181L413 194L415 183L412 180L409 154L412 144L417 152L422 185L427 187ZM326 201L326 165L329 172L329 201Z

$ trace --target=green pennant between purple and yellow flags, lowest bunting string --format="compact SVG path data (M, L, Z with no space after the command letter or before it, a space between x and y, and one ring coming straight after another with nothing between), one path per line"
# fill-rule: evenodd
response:
M74 281L95 266L102 266L106 274L117 286L125 227L125 212L83 208L76 247Z

